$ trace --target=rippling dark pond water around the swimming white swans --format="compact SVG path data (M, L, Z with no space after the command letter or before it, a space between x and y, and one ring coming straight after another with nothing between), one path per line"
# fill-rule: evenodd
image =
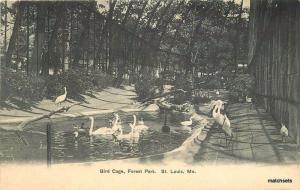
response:
M119 113L124 134L130 132L129 123L133 113ZM179 130L178 117L169 117L170 133L161 132L164 116L160 113L134 113L137 119L143 118L149 130L142 132L139 141L134 144L115 141L109 138L90 137L81 134L74 137L74 124L82 123L85 128L90 127L87 117L76 119L52 119L51 122L51 159L52 163L90 162L101 160L125 159L154 155L168 152L179 147L190 135L187 131ZM109 126L112 114L103 114L95 117L95 127ZM182 120L181 120L182 121ZM30 131L17 134L12 131L0 131L0 162L46 162L47 138L46 123L36 122ZM177 130L178 129L178 130Z

